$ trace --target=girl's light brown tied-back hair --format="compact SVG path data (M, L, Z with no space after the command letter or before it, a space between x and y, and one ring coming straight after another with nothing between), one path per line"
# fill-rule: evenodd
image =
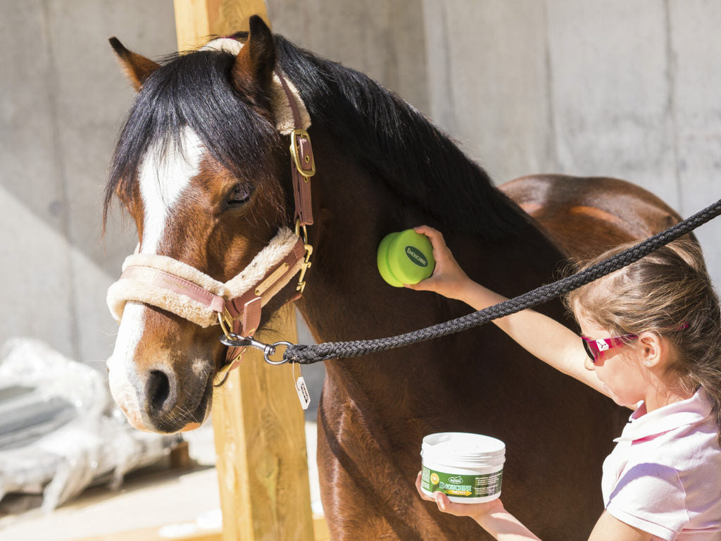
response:
M635 243L579 263L590 267ZM686 392L703 387L721 444L721 311L699 245L677 240L636 263L571 291L565 298L614 336L650 331L666 338L676 355L668 367Z

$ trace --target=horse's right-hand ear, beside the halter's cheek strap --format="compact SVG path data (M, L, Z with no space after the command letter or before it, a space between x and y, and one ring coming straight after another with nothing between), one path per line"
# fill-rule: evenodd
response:
M275 69L275 41L265 21L257 16L250 17L250 34L236 58L233 78L242 87L250 77L262 89L270 87Z

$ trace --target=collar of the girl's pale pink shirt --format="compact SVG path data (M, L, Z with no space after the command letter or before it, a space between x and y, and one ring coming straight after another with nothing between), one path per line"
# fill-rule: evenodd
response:
M636 441L704 421L711 413L712 405L706 391L699 387L689 399L665 405L650 413L644 413L645 410L646 406L642 403L631 414L621 436L614 441Z

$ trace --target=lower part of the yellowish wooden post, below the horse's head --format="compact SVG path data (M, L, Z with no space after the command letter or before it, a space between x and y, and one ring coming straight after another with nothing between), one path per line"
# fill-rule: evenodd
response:
M292 319L292 310L285 312ZM285 329L283 336L296 340ZM213 406L226 541L314 538L304 418L292 372L252 352ZM223 413L216 418L218 408Z

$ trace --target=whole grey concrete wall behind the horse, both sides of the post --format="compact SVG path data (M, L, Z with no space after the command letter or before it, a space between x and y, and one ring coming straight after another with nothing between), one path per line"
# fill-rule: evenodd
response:
M268 0L274 30L402 94L497 182L626 178L689 215L721 197L721 4ZM107 38L175 48L167 0L0 0L0 341L105 359L136 242L102 186L133 99ZM721 283L721 220L698 232Z

